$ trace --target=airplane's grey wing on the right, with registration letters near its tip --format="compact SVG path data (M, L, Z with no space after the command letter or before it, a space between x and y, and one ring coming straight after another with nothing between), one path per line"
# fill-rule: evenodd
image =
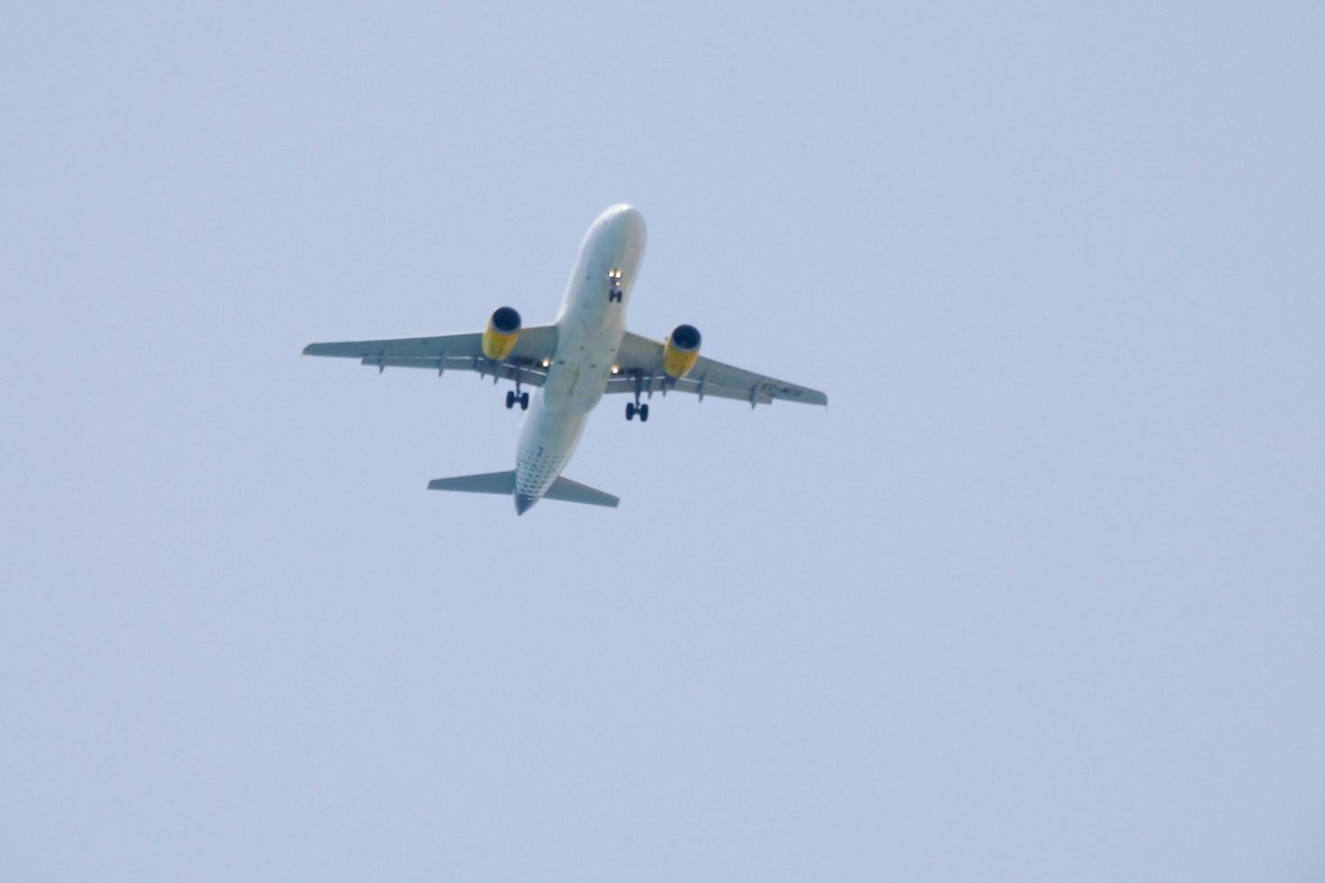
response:
M751 371L725 365L713 359L700 356L681 380L672 380L662 373L662 344L657 340L625 332L616 364L620 373L610 377L607 392L693 392L702 400L705 396L737 398L749 401L750 406L771 404L774 398L799 401L807 405L827 405L828 396L818 389L807 389L775 380Z

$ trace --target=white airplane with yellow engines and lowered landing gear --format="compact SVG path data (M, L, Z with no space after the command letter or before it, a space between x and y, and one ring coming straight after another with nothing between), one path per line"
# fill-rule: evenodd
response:
M541 499L616 507L620 499L562 477L604 395L632 396L625 418L647 422L655 392L694 393L704 401L734 398L750 406L774 400L827 405L816 391L734 368L700 355L700 331L678 324L659 343L625 330L625 307L644 258L644 217L629 205L612 205L584 234L575 270L553 324L523 327L511 307L498 307L484 331L439 338L311 343L307 356L358 359L364 365L425 368L490 375L493 384L513 380L506 408L527 410L519 430L515 469L437 478L429 490L502 494L523 515ZM538 395L530 401L529 391Z

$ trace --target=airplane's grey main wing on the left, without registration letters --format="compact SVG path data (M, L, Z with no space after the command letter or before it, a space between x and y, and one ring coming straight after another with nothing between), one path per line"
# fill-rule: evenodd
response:
M556 352L556 326L523 328L515 348L502 361L484 356L481 332L448 334L440 338L400 338L398 340L347 340L344 343L310 343L306 356L358 359L360 364L387 368L428 368L439 375L447 371L477 371L480 375L504 377L542 387L547 376L543 361Z

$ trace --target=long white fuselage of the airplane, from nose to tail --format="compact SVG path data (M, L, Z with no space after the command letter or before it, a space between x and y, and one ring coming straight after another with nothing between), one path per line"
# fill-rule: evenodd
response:
M519 430L517 512L542 499L566 469L607 389L645 238L644 218L629 205L607 209L584 234L556 314L556 353Z

